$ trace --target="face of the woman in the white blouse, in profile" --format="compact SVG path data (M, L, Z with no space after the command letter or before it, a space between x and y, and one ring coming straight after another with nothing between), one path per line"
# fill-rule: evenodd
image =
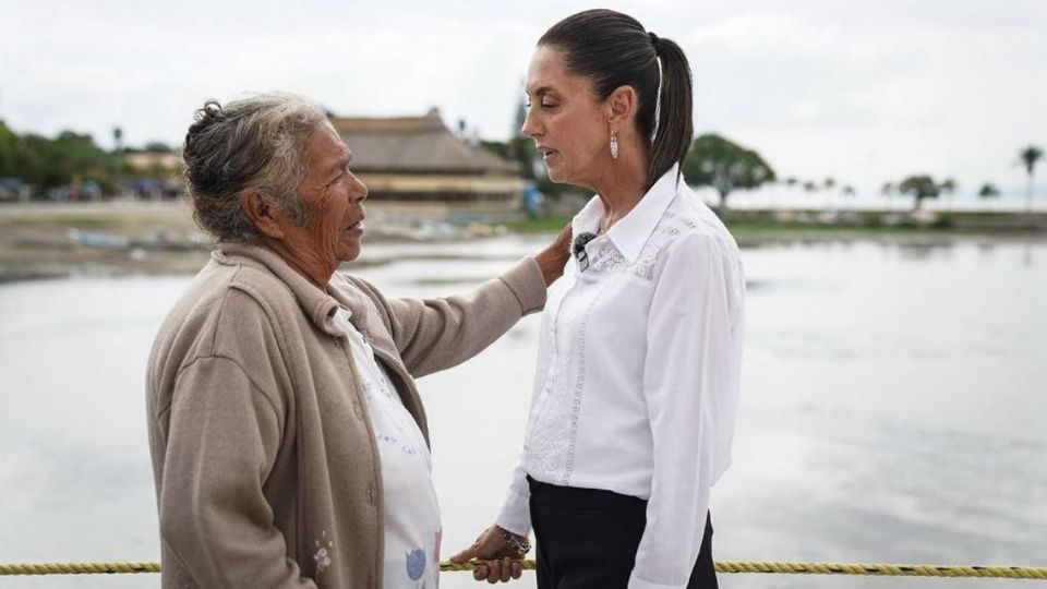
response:
M534 140L550 180L591 188L611 164L609 111L592 82L568 73L558 49L539 46L527 72L527 96L521 131Z

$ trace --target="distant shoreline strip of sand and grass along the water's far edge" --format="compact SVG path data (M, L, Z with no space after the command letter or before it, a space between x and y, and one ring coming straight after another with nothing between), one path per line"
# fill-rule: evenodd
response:
M424 220L407 225L373 215L365 240L426 243L483 239L510 233L550 233L568 216L498 226L449 226ZM369 209L370 211L370 209ZM946 244L958 240L1047 240L1047 215L936 212L923 225L869 226L871 217L844 216L831 223L825 212L731 211L727 226L742 247L826 241L891 241ZM893 212L884 214L896 215ZM819 216L820 215L820 216ZM928 219L930 223L927 223ZM882 219L876 219L882 220ZM365 242L366 243L366 242ZM0 284L74 276L194 274L207 261L210 240L196 228L188 204L89 203L0 206ZM364 256L352 267L386 263Z

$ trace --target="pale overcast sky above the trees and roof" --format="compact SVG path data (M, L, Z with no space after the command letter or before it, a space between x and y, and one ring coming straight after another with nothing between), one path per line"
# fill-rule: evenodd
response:
M594 4L0 0L0 119L16 132L178 144L207 98L311 96L338 115L438 107L509 136L534 41ZM781 177L861 192L914 172L1024 185L1047 147L1047 0L612 2L679 43L698 132ZM1047 166L1040 167L1047 177Z

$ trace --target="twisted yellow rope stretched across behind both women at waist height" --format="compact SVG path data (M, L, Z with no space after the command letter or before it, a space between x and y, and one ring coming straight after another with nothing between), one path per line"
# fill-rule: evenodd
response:
M443 572L472 570L483 561L464 565L440 563ZM525 569L534 568L534 561L522 561ZM92 575L113 573L159 573L159 563L44 563L0 564L0 576L9 575ZM1047 580L1047 567L974 566L926 564L865 563L780 563L719 561L717 573L771 573L782 575L868 575L880 577L995 577L1002 579Z

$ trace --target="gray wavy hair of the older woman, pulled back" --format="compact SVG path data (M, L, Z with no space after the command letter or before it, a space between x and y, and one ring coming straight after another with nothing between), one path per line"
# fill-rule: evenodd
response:
M196 110L182 158L201 228L219 241L257 239L240 205L248 191L276 201L304 225L294 189L305 176L305 142L325 120L323 108L292 94L256 94L226 106L208 100Z

